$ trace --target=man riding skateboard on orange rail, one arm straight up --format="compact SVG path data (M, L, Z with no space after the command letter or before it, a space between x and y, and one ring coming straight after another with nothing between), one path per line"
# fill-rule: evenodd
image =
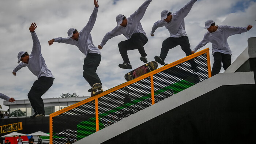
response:
M78 49L86 56L86 58L84 58L83 65L84 79L90 84L91 87L93 87L94 84L99 83L100 87L102 88L101 80L96 73L99 63L101 62L101 52L99 52L99 49L94 46L93 39L90 34L97 18L99 7L98 1L94 0L94 6L95 7L90 16L89 22L79 33L76 29L70 28L68 30L67 38L53 38L52 40L48 41L48 43L49 45L52 45L53 42L62 42L77 46ZM88 91L91 92L91 88Z

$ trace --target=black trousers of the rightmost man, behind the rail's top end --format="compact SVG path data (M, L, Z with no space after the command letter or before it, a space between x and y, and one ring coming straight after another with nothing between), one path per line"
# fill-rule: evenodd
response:
M231 55L230 54L224 54L220 52L215 52L213 54L214 57L214 63L211 70L211 76L214 76L221 71L221 62L223 64L223 68L226 69L231 65Z

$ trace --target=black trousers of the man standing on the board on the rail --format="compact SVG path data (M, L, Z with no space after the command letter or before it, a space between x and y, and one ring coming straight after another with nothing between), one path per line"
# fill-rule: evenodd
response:
M101 83L96 70L101 62L101 55L97 53L88 53L86 58L84 58L83 64L83 77L90 84L91 87L95 83Z

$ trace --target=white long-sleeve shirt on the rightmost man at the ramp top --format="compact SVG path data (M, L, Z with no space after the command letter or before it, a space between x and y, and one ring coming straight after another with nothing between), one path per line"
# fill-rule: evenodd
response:
M218 29L210 33L207 31L204 34L203 40L193 49L196 52L198 49L205 46L208 42L212 43L212 54L215 52L220 52L224 54L231 54L231 50L229 48L229 44L227 43L227 38L234 34L241 34L248 31L246 27L233 27L226 25L219 25Z

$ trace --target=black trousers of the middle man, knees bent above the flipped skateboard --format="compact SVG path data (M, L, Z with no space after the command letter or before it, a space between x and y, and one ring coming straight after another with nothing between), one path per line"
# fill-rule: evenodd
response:
M127 50L138 49L141 56L147 56L143 47L147 43L147 40L146 35L143 33L135 33L130 39L118 43L119 52L123 58L124 64L131 64L127 55Z

